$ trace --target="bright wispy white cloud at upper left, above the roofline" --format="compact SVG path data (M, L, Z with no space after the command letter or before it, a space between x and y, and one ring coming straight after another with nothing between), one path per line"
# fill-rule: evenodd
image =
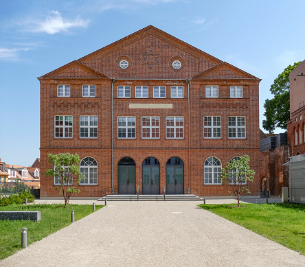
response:
M52 10L45 21L28 21L27 30L30 32L45 32L47 34L57 34L58 32L67 32L73 27L87 27L89 20L76 19L68 20L63 19L63 16L58 11ZM30 26L30 27L29 27Z

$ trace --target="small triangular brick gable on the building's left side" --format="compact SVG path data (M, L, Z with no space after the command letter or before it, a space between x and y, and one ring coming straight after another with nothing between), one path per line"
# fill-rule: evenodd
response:
M103 73L84 65L78 60L74 60L63 67L51 71L41 78L109 78Z

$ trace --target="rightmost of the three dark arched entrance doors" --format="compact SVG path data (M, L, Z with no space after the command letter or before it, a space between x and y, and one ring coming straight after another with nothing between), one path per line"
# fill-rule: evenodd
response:
M166 163L166 194L184 194L183 161L173 156Z

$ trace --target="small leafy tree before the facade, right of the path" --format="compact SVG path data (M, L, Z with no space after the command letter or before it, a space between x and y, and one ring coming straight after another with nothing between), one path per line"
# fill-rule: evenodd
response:
M244 192L251 193L248 185L246 185L246 181L252 182L254 174L256 174L256 172L250 170L249 161L250 157L248 155L240 156L238 160L232 159L227 163L227 166L221 170L221 181L222 183L231 185L237 199L238 207L240 207L240 195ZM229 191L229 193L231 193L231 191Z

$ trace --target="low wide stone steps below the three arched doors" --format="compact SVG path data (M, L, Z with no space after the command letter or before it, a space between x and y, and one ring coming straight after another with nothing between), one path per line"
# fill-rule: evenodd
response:
M98 201L202 201L196 195L107 195Z

